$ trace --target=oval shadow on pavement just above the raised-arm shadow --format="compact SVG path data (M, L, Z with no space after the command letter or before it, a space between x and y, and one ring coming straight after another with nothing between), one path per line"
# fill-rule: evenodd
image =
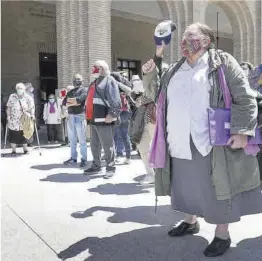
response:
M96 188L89 189L90 192L97 192L100 195L135 195L150 193L148 190L152 186L140 186L135 183L103 184Z

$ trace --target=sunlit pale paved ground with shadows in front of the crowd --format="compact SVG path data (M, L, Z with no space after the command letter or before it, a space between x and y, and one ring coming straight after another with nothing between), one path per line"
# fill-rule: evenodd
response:
M112 180L85 177L66 168L69 148L45 147L30 155L1 159L2 260L204 261L214 226L202 219L196 236L171 239L182 220L168 198L137 181L143 165L119 166ZM91 159L91 153L89 150ZM231 226L232 249L214 261L262 260L262 214Z

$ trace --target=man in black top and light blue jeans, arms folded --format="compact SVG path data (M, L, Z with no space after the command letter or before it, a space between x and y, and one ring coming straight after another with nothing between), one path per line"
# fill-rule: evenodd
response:
M68 130L71 148L71 157L65 161L65 165L76 165L77 163L77 139L80 143L81 163L80 168L87 166L87 145L86 145L86 120L85 100L87 88L83 86L83 77L76 74L73 78L74 89L69 91L63 101L68 108Z

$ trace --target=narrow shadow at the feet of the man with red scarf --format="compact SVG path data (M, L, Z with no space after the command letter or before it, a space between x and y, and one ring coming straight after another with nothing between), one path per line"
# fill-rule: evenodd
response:
M98 179L101 177L103 177L103 175L85 176L83 174L58 173L58 174L49 175L44 179L40 179L40 181L49 181L49 182L57 182L57 183L80 183L80 182L88 182L92 179Z

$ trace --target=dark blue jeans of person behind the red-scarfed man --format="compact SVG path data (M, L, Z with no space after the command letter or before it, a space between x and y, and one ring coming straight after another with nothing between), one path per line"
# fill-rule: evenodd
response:
M115 128L115 146L117 156L123 155L123 145L126 151L126 158L131 158L131 141L128 135L129 122L123 122Z

